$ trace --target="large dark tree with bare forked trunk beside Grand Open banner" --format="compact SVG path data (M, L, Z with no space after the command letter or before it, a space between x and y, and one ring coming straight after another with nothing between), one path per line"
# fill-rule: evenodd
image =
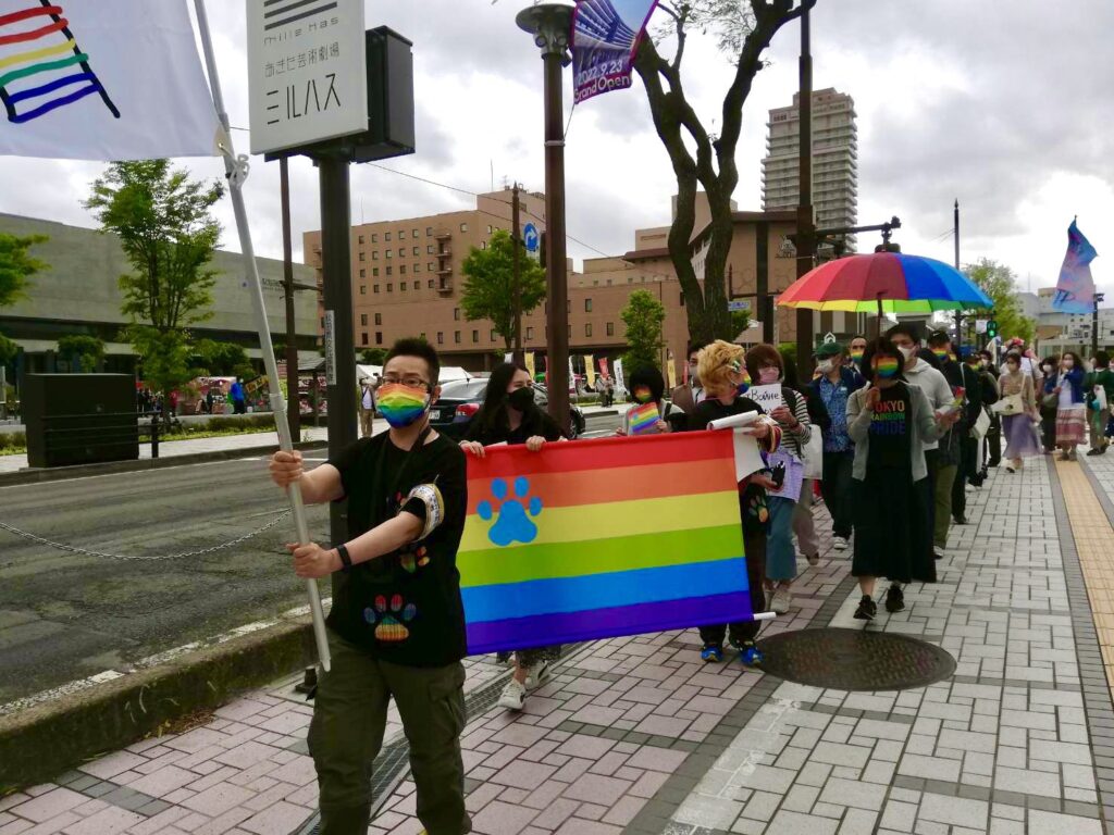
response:
M739 185L735 151L743 125L743 105L763 53L785 23L815 6L817 0L663 0L658 10L666 27L657 38L643 38L635 58L649 111L677 181L670 258L685 294L688 334L694 342L732 340L737 331L727 311L725 275L734 237L731 197ZM794 8L795 7L795 8ZM688 100L682 61L692 32L712 35L733 71L716 115L716 132L706 127ZM672 57L659 47L670 43ZM697 85L704 87L704 85ZM696 226L696 194L703 188L711 209L711 236L703 285L696 278L690 242Z

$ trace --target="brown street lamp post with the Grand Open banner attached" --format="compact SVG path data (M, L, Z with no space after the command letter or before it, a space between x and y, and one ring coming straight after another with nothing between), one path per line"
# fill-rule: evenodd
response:
M568 276L565 255L565 120L561 72L568 55L573 7L539 3L518 12L518 28L534 36L545 63L546 119L546 371L549 414L568 431Z

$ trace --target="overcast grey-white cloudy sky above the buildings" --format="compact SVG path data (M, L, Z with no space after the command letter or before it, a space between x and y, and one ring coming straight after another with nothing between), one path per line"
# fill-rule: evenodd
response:
M507 178L541 190L541 61L514 22L527 3L367 1L369 27L387 24L414 41L418 153L385 166L471 191L490 189L494 169L497 187ZM1096 283L1114 301L1114 3L1076 0L1069 8L1037 0L819 0L813 82L854 98L861 224L898 215L903 228L895 239L906 253L950 262L958 198L962 261L1005 262L1022 289L1035 291L1055 284L1067 225L1078 215L1100 253ZM243 2L211 0L208 10L232 122L246 127ZM761 208L766 115L792 100L799 40L799 24L781 31L746 101L740 208ZM684 75L714 129L729 62L710 39L697 38ZM569 85L566 73L567 101ZM246 153L247 134L235 139ZM183 163L198 176L223 174L216 159ZM569 242L575 258L622 254L634 246L635 228L668 223L675 186L637 80L577 108L566 167L569 234L592 247ZM100 169L0 157L0 212L91 226L80 202ZM314 168L295 160L292 183L300 258L301 233L319 226ZM352 187L356 223L472 205L465 194L372 166L353 169ZM256 158L246 190L256 249L280 257L277 164ZM219 216L223 245L238 249L226 202ZM860 250L874 243L860 236Z

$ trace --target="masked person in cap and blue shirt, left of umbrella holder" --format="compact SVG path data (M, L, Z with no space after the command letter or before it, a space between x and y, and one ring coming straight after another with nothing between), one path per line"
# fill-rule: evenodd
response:
M815 404L815 422L824 438L820 491L832 517L836 550L846 551L851 540L851 470L854 463L854 442L847 426L847 401L851 392L866 385L866 380L846 363L846 351L838 342L821 345L815 358L819 375L811 384L811 401Z

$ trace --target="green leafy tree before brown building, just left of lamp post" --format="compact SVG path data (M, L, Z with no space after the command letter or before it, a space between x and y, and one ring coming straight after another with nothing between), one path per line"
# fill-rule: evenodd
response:
M546 271L528 257L519 244L519 288L521 313L534 311L546 297ZM461 267L465 286L460 307L469 322L490 320L496 333L502 336L507 351L520 351L512 345L515 338L515 245L510 233L498 229L488 242L487 249L472 247Z

